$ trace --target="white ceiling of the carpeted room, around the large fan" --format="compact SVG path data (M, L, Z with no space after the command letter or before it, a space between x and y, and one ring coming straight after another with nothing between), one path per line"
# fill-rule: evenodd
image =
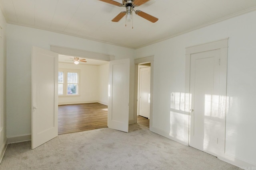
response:
M122 0L116 0L122 3ZM181 33L256 10L256 0L150 0L135 10L159 20L134 16L111 20L124 7L100 0L0 0L8 23L35 27L137 49Z

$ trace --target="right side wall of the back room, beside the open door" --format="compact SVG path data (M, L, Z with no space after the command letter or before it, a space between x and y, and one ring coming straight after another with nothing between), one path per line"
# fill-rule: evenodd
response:
M109 64L99 66L99 103L108 105Z

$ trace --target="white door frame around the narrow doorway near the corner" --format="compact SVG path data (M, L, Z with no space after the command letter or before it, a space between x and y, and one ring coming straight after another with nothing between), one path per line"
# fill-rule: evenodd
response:
M150 119L149 119L149 130L153 127L153 90L154 90L154 56L144 57L134 60L134 123L137 123L137 108L138 108L138 64L150 63Z

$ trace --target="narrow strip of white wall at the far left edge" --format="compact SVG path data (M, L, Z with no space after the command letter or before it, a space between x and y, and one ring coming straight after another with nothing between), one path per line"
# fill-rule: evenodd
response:
M6 149L6 20L0 10L0 162Z

